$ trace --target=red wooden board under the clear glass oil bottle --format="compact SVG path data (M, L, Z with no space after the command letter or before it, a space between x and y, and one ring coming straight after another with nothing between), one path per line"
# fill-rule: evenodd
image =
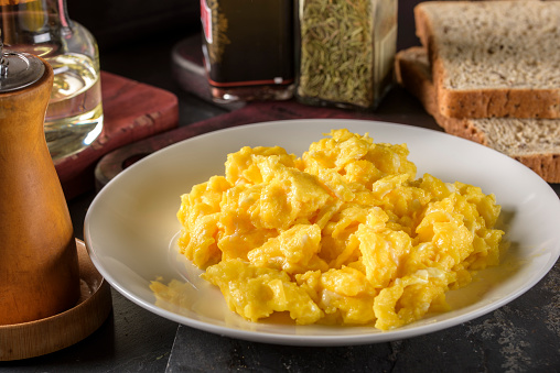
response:
M107 153L179 125L170 91L101 72L104 130L84 151L55 161L66 199L95 189L95 167Z

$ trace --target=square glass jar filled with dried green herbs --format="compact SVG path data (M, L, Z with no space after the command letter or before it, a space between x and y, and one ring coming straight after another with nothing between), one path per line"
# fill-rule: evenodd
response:
M375 109L394 81L397 0L300 0L297 98Z

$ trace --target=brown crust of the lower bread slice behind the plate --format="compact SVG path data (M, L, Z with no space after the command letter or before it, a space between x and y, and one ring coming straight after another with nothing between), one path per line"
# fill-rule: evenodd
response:
M492 147L486 132L476 125L476 119L457 119L442 116L429 67L428 53L423 47L411 47L397 53L395 58L397 81L416 96L435 122L449 134L467 139ZM508 119L496 119L507 121ZM560 120L558 121L560 125ZM536 172L548 183L560 183L560 153L509 154Z

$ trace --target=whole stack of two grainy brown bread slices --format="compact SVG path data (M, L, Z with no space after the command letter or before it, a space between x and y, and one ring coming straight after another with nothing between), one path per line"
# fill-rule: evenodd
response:
M445 132L560 183L560 1L429 1L397 80Z

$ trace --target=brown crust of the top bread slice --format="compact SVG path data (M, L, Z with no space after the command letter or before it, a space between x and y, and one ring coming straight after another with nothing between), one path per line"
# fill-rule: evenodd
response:
M454 4L482 2L453 1ZM537 1L538 2L538 1ZM446 6L450 2L444 2ZM448 72L440 57L434 25L427 7L438 1L422 2L414 8L417 35L427 48L432 67L439 112L449 118L560 118L560 87L558 88L483 88L460 89L445 87ZM515 7L515 6L511 6Z

